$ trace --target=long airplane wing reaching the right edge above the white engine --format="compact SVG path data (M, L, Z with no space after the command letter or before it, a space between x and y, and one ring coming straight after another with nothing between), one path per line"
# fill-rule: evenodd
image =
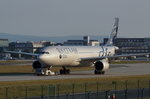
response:
M118 58L118 57L143 56L143 55L150 55L150 53L123 54L123 55L101 56L101 57L87 57L87 58L80 58L78 61L97 61L97 60L106 59L106 58L110 59L110 58Z

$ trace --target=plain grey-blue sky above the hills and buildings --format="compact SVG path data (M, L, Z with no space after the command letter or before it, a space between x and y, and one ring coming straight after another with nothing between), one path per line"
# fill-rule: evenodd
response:
M150 37L150 0L0 0L0 32L38 36Z

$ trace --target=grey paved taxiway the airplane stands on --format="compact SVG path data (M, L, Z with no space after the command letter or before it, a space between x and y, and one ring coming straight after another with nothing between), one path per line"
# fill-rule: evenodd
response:
M150 74L150 63L141 64L113 64L105 75L95 75L93 70L71 72L70 75L36 76L33 74L0 75L0 81L23 81L23 80L56 80L77 79L93 77L114 77Z

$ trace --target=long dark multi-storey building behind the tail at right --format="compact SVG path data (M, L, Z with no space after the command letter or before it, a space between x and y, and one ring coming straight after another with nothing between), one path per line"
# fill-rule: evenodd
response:
M114 45L122 48L119 54L150 53L150 38L116 38Z

